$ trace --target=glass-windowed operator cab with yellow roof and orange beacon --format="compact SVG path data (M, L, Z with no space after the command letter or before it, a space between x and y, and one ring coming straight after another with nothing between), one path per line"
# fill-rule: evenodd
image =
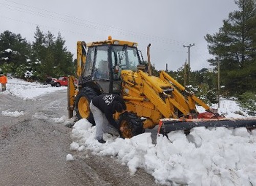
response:
M140 64L136 43L109 38L88 45L83 78L91 77L102 93L120 93L121 70L136 71Z

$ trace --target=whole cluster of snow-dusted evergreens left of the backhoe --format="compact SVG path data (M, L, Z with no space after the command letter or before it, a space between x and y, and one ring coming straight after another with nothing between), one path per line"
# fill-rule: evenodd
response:
M45 80L46 76L74 74L73 55L65 47L60 33L57 38L36 27L32 45L20 34L0 34L0 68L4 73L29 80Z

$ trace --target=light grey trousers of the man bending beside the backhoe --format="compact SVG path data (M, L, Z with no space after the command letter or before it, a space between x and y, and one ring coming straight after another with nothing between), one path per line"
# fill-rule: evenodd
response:
M95 138L97 140L103 139L103 133L112 133L113 130L117 132L116 129L109 124L109 121L108 119L106 119L105 114L102 113L97 107L95 107L92 101L90 102L90 109L93 114L93 118L95 120L95 126L96 126Z

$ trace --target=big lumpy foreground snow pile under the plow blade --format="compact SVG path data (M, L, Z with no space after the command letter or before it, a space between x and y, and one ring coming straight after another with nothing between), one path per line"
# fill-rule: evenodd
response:
M151 133L131 139L104 134L105 144L94 136L90 122L77 121L70 149L116 157L131 175L141 168L160 184L256 185L256 131L199 127L187 136L183 131L169 133L169 139L158 136L156 144Z

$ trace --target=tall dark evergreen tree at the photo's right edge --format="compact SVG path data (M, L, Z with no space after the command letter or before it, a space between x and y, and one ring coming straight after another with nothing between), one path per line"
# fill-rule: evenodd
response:
M223 20L218 33L207 34L209 59L211 65L220 62L221 79L231 95L242 94L248 90L256 91L255 85L255 0L235 1L239 10L229 13Z

